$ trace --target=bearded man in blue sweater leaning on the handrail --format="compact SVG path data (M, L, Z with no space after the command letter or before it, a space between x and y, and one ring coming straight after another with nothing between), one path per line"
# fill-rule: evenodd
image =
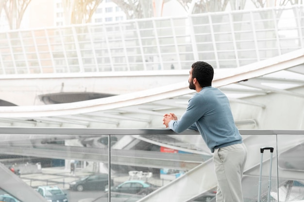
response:
M198 130L214 153L217 202L243 202L241 179L247 149L236 128L229 100L211 86L214 72L210 64L195 62L189 73L189 88L197 93L179 120L174 113L169 113L164 115L163 124L177 133L188 128Z

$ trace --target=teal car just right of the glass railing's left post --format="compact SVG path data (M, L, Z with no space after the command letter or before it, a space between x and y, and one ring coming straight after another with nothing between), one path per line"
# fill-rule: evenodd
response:
M111 192L148 195L157 188L159 188L159 186L143 180L129 180L121 183L118 186L111 187ZM108 189L106 188L105 191L108 191Z

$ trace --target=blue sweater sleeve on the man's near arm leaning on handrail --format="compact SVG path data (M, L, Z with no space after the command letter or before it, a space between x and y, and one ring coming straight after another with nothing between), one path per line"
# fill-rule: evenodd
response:
M179 120L172 120L169 122L170 129L176 133L181 133L188 128L198 130L195 122L203 116L203 108L200 104L200 100L202 99L198 99L198 96L199 95L195 94L189 100L187 109Z

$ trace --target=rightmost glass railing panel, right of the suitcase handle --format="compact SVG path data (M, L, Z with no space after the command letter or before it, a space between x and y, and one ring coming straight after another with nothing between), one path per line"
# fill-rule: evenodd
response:
M280 202L304 200L304 133L278 135L278 174Z

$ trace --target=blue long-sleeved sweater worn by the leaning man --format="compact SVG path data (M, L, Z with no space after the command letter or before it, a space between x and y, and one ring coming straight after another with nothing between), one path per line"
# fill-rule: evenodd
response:
M212 153L214 149L242 143L228 98L211 86L195 93L183 116L170 121L169 128L177 133L188 128L198 130Z

